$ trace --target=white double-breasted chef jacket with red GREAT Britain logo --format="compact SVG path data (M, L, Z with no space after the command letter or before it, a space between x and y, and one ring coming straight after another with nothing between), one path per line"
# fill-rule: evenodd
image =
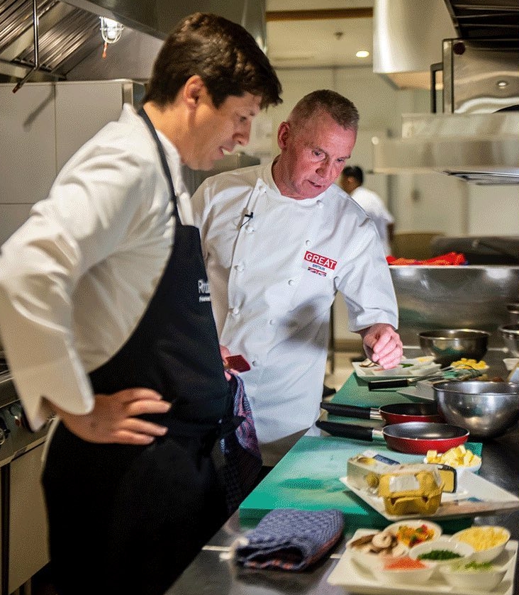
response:
M264 464L274 465L318 418L337 291L352 330L396 328L389 267L350 196L335 184L313 199L282 196L272 163L208 178L191 203L218 336L251 364L242 377Z

